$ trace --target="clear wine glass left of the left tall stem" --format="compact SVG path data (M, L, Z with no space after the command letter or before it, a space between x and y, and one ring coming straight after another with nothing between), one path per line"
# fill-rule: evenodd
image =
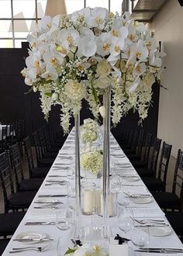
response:
M59 230L69 230L72 225L73 213L67 207L63 207L56 213L56 227Z

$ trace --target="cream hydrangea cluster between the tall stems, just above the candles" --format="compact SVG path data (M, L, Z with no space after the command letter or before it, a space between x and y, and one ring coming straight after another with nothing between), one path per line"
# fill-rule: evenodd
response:
M102 170L103 154L102 150L93 150L81 154L81 168L97 175Z

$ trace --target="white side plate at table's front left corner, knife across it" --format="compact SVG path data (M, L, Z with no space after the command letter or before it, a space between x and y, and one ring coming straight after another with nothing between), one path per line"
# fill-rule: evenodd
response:
M46 238L47 237L47 234L45 233L37 233L37 232L23 232L21 234L18 234L16 236L16 239L43 239L43 238ZM36 243L39 243L40 241L39 240L36 240L36 241L26 241L26 240L22 240L22 241L19 241L19 243L21 244L36 244Z

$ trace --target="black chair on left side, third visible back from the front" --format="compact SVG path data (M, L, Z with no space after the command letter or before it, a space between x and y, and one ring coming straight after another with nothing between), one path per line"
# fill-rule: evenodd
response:
M33 161L33 150L31 146L31 141L29 136L23 140L24 148L26 152L26 159L28 162L29 168L29 177L30 178L45 178L47 176L48 171L50 168L47 167L35 167Z

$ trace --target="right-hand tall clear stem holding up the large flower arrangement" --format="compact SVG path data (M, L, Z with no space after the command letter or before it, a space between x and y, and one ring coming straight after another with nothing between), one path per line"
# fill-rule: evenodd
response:
M109 237L109 142L110 142L110 107L111 107L111 88L105 88L103 96L105 106L104 116L104 140L103 140L103 224L104 236Z

